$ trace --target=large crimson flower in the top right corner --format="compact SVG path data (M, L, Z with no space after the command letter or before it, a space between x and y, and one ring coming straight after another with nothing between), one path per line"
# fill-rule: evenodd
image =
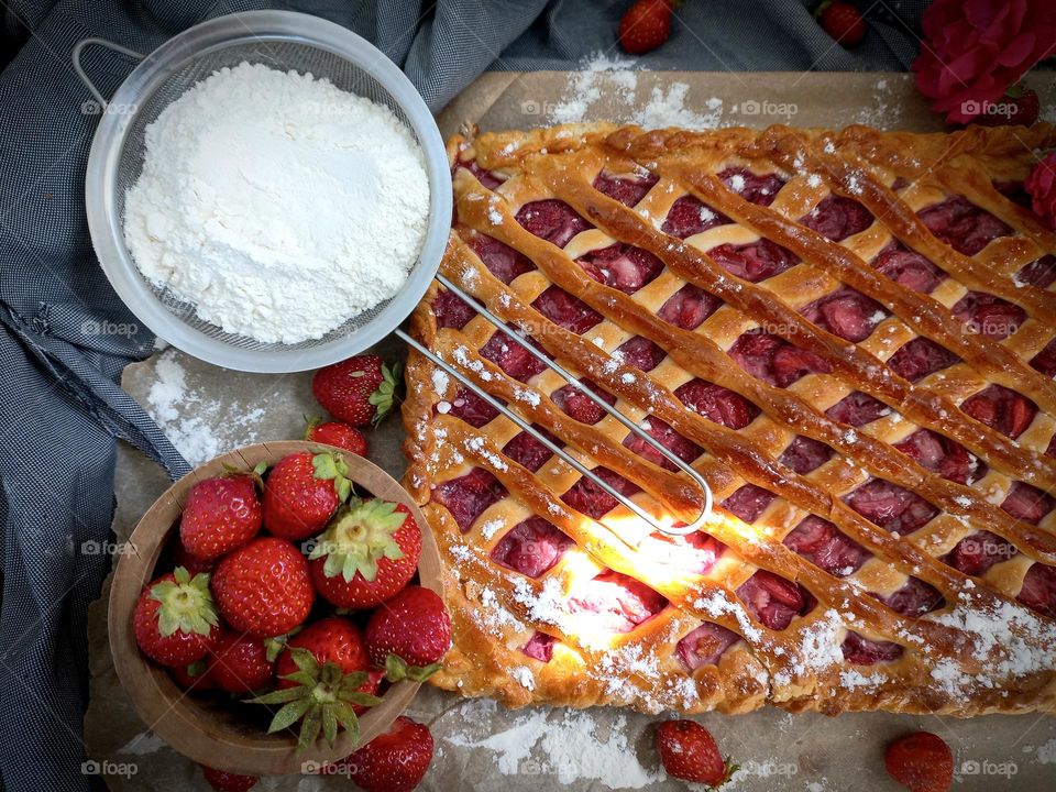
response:
M935 0L922 23L916 87L950 123L985 112L1056 52L1053 0Z

